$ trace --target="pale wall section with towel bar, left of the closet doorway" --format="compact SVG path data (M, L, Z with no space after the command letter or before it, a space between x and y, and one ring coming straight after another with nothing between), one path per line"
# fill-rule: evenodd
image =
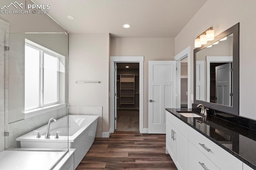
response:
M109 131L109 34L70 34L69 106L101 106L102 131ZM75 81L100 81L78 83Z

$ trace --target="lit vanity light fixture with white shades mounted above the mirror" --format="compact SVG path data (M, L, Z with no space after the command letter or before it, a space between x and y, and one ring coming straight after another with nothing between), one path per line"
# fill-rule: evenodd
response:
M197 36L194 46L201 47L201 45L206 44L207 41L214 40L214 30L213 27L208 28L205 32Z

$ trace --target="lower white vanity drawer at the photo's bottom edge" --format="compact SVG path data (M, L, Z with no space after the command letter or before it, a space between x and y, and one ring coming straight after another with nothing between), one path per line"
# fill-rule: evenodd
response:
M200 163L201 164L200 164ZM204 166L204 167L203 167ZM219 170L194 144L188 142L188 169L189 170Z

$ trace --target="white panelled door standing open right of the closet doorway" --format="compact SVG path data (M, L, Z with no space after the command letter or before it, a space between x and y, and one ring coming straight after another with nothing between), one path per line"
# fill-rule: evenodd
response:
M166 133L165 108L176 108L176 61L148 61L148 133Z

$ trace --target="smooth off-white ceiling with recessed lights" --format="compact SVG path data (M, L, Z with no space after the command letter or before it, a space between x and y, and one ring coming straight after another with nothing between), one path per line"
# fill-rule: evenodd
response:
M206 0L33 0L69 33L122 38L175 38ZM67 16L74 16L69 20ZM128 29L123 24L130 24Z

